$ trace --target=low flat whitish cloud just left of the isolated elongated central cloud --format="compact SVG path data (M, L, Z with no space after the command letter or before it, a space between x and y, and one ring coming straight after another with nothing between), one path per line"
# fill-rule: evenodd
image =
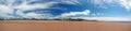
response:
M24 18L51 18L52 15L50 14L37 14L37 13L27 13L23 15Z

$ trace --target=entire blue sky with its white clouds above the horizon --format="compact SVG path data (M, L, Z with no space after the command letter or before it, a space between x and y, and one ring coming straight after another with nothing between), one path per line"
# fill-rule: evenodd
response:
M131 20L131 0L0 0L0 18L62 17Z

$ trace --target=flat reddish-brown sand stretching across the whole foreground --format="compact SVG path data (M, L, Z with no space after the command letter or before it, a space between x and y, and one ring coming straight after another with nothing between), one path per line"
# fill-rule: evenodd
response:
M13 20L0 21L0 31L131 31L131 22Z

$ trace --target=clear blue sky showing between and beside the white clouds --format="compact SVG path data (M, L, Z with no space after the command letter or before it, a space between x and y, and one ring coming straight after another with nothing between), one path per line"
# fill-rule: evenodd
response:
M43 2L41 2L43 1ZM64 1L64 0L63 0ZM93 3L94 0L78 0L78 2L73 2L73 0L66 0L68 2L63 2L62 0L35 0L32 2L28 2L26 4L21 5L24 1L22 0L17 0L14 3L12 3L13 6L28 6L31 7L32 4L36 4L36 5L46 5L45 3L48 2L57 2L55 4L51 4L51 6L48 6L47 9L39 9L40 6L36 6L36 9L29 9L27 11L22 11L23 14L28 14L28 13L33 13L35 15L39 15L39 14L51 14L53 16L60 16L63 13L71 13L71 12L83 12L85 10L90 10L90 14L88 15L73 15L73 16L69 16L69 17L131 17L131 12L129 12L126 7L121 6L121 4L119 4L118 2L114 2L114 3L106 3L106 2L99 2L100 4L95 4ZM70 3L69 3L70 2ZM5 2L1 2L0 4L5 4ZM12 9L13 9L12 6ZM8 7L8 6L5 6ZM35 7L35 5L34 5ZM38 7L38 9L37 9ZM10 6L9 6L10 9ZM0 9L2 10L2 9ZM19 10L19 9L17 9ZM22 7L23 10L23 7ZM19 10L21 11L21 10ZM13 10L13 14L10 14L11 16L15 16L15 17L23 17L23 15L19 15L16 13L16 10ZM98 15L97 15L98 13ZM103 15L99 15L103 14Z

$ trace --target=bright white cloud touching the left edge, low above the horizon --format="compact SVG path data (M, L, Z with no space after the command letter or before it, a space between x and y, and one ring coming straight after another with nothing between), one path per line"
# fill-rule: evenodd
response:
M13 17L11 15L8 15L8 14L12 14L13 13L13 10L5 6L5 5L0 5L0 17Z

